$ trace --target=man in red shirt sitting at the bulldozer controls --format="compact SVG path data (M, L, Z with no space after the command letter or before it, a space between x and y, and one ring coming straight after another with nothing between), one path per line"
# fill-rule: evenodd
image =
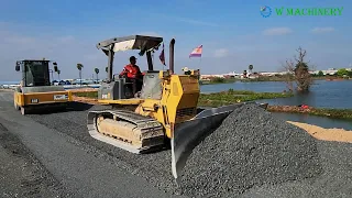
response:
M120 73L121 77L125 77L127 81L132 82L132 91L135 95L141 91L143 85L143 74L140 67L136 65L136 58L134 56L130 57L130 64L124 66L123 70Z

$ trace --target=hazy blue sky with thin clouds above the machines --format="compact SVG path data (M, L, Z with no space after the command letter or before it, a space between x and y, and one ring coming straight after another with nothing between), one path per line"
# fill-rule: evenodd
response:
M261 14L265 6L272 10L267 18ZM341 15L277 15L278 8L343 10ZM133 34L163 36L167 65L175 38L176 73L186 66L201 74L242 73L249 65L254 72L278 72L299 46L315 69L350 67L351 8L348 0L1 0L0 81L20 79L16 61L43 57L57 62L62 79L79 77L77 63L84 65L84 78L96 67L105 78L108 58L96 44ZM189 58L199 45L202 57ZM163 68L160 53L156 69ZM114 74L131 55L146 70L145 56L129 51L116 54Z

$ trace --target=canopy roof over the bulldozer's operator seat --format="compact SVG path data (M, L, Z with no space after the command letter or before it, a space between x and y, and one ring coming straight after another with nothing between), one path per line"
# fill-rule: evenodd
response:
M97 48L102 50L107 56L109 56L109 50L112 50L113 52L140 50L140 55L142 56L147 51L157 50L162 42L163 37L130 35L106 40L98 43Z

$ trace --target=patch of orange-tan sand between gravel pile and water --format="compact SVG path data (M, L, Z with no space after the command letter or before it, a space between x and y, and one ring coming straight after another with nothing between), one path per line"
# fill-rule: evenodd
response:
M318 125L293 121L287 122L306 130L310 135L318 140L352 143L352 131L346 131L344 129L324 129Z

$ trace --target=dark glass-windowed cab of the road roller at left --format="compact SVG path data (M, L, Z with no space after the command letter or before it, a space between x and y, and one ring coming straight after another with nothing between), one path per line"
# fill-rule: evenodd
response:
M24 59L15 63L15 70L22 72L22 87L51 86L50 61ZM57 64L53 63L57 70Z

